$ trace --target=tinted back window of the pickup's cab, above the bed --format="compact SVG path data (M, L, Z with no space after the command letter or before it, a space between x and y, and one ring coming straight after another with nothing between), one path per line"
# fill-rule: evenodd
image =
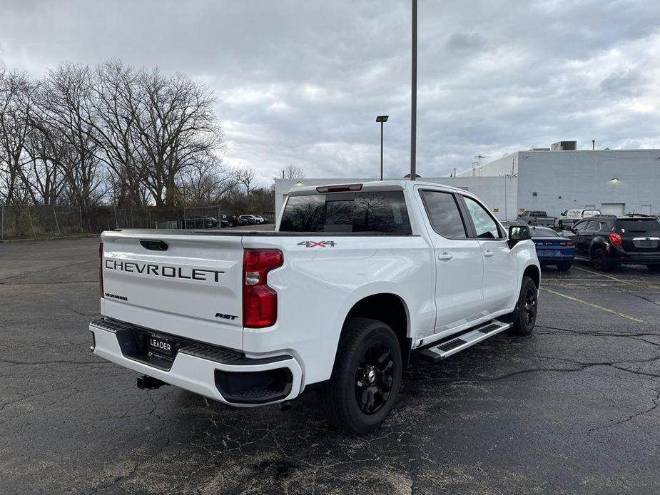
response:
M410 235L402 191L290 196L280 232Z

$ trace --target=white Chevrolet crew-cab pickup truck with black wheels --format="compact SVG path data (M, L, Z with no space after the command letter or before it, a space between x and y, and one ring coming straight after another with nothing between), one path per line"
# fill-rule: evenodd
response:
M474 195L410 180L295 188L274 232L108 231L99 258L92 349L138 387L238 407L315 389L358 434L412 351L532 332L541 273L526 225L507 235Z

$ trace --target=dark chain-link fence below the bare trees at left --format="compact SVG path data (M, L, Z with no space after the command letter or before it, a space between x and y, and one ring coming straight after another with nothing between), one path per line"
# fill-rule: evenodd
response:
M273 215L263 215L272 221ZM66 205L0 205L0 240L101 233L116 228L220 228L233 212L200 208L81 208Z

